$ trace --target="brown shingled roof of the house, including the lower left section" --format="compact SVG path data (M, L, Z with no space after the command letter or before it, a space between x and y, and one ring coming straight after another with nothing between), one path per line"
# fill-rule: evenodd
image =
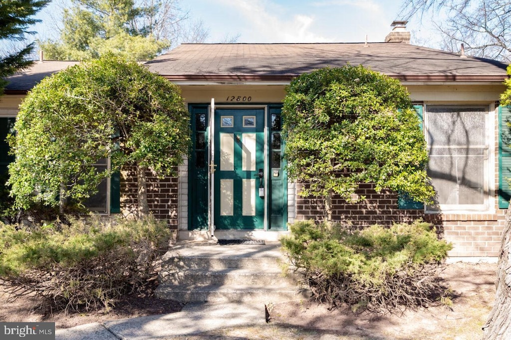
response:
M7 78L6 93L30 90L76 61L43 61ZM502 82L507 65L401 42L182 44L145 65L171 81L284 81L321 67L364 65L402 81Z

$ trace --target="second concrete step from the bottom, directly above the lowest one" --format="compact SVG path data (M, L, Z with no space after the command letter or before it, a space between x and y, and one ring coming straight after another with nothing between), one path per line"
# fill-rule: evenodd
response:
M227 268L222 270L161 271L160 284L165 285L239 285L253 286L296 285L294 276L284 276L282 270L260 270Z

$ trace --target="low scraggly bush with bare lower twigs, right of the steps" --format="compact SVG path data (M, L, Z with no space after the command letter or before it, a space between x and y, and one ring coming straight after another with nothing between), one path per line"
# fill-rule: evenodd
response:
M290 268L303 275L316 300L333 307L385 313L447 301L437 272L452 246L428 223L353 231L300 221L281 241Z

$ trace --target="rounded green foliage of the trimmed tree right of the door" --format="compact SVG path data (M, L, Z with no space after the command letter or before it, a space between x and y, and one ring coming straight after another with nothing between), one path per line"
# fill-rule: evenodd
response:
M428 201L427 152L408 92L363 66L323 68L291 82L284 99L285 157L304 195L347 200L359 183Z

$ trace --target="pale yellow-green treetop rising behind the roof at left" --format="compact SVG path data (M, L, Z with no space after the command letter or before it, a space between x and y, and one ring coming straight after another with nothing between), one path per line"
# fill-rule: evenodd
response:
M74 1L64 10L60 40L40 41L39 46L55 60L87 60L109 53L150 60L170 47L169 40L153 34L160 24L155 16L163 6L158 2L136 7L132 0Z

